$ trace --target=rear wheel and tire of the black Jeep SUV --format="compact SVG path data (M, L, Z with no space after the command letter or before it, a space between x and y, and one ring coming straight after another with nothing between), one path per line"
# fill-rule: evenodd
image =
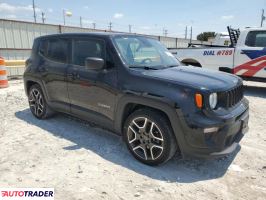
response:
M31 113L37 119L47 119L54 114L52 109L48 106L43 95L42 89L38 84L35 84L30 87L28 94L28 102Z

